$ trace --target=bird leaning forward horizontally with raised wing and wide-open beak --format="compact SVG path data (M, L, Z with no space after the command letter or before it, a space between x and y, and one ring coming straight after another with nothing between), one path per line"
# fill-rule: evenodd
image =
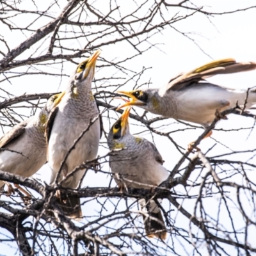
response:
M138 106L151 113L202 125L205 129L226 109L243 110L256 104L256 89L235 90L209 83L207 77L254 70L255 62L237 62L232 58L214 60L190 72L179 74L161 88L118 91L131 98L117 109ZM211 131L208 136L211 136Z

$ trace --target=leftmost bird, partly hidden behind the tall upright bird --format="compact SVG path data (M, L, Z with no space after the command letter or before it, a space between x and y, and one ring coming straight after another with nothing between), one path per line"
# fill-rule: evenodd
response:
M0 139L0 170L22 177L31 177L46 161L45 124L54 106L65 92L52 95L40 113L15 125ZM14 191L12 185L0 180L0 188L8 187L8 195ZM31 196L18 184L14 184L25 195Z

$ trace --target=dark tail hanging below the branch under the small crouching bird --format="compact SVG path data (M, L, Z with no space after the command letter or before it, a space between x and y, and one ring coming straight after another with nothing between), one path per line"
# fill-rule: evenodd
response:
M150 200L146 204L145 200L141 199L140 207L142 211L147 212L149 215L143 215L146 235L148 237L157 237L163 240L166 239L166 226L164 225L161 210L157 206L156 202L154 200Z

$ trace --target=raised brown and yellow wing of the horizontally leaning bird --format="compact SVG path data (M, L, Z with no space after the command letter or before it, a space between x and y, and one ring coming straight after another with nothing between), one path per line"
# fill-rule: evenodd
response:
M231 74L249 71L256 68L255 62L236 62L234 59L222 59L211 61L201 67L195 68L188 73L182 73L169 81L166 86L159 90L160 95L164 95L168 90L181 90L184 87L203 81L207 77L218 74Z

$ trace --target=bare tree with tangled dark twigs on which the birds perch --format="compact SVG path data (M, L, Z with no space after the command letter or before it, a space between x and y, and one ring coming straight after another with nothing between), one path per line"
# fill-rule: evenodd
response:
M168 143L172 156L180 154L175 155L180 157L172 157L172 166L166 165L170 178L159 188L152 192L127 189L124 193L112 182L108 166L111 152L106 146L109 126L116 119L116 112L122 113L115 111L116 91L125 86L152 86L147 63L140 70L134 70L134 63L152 49L161 51L157 36L173 30L176 35L195 42L204 52L196 35L182 31L179 24L196 17L209 19L210 26L212 17L250 12L256 6L236 10L230 6L228 11L210 12L197 1L0 3L2 131L8 131L42 108L46 99L60 91L70 69L99 48L103 54L97 62L93 92L104 124L97 158L100 170L95 174L91 163L77 166L88 168L84 177L87 183L81 189L62 189L67 196L83 199L83 221L71 221L61 212L54 198L56 188L45 183L44 177L24 179L0 172L0 179L26 186L33 194L28 205L20 199L19 191L10 198L2 195L0 241L4 250L9 248L12 252L0 254L12 255L15 250L18 255L252 255L256 252L252 243L256 227L252 175L256 168L255 146L250 148L245 143L243 149L223 150L227 141L216 140L207 150L191 154L175 140L175 134L191 134L200 127L134 109L130 119L136 132L150 136L153 141ZM122 52L121 57L115 52ZM33 93L23 94L29 91ZM246 132L253 140L255 116L236 110L232 113L237 114L235 118L249 120L248 126L225 131ZM223 131L214 130L217 134ZM195 147L208 131L201 132ZM47 165L46 169L49 172ZM161 209L169 233L166 242L149 239L143 233L143 212L138 211L140 198L163 198ZM49 216L47 209L54 209L54 216Z

